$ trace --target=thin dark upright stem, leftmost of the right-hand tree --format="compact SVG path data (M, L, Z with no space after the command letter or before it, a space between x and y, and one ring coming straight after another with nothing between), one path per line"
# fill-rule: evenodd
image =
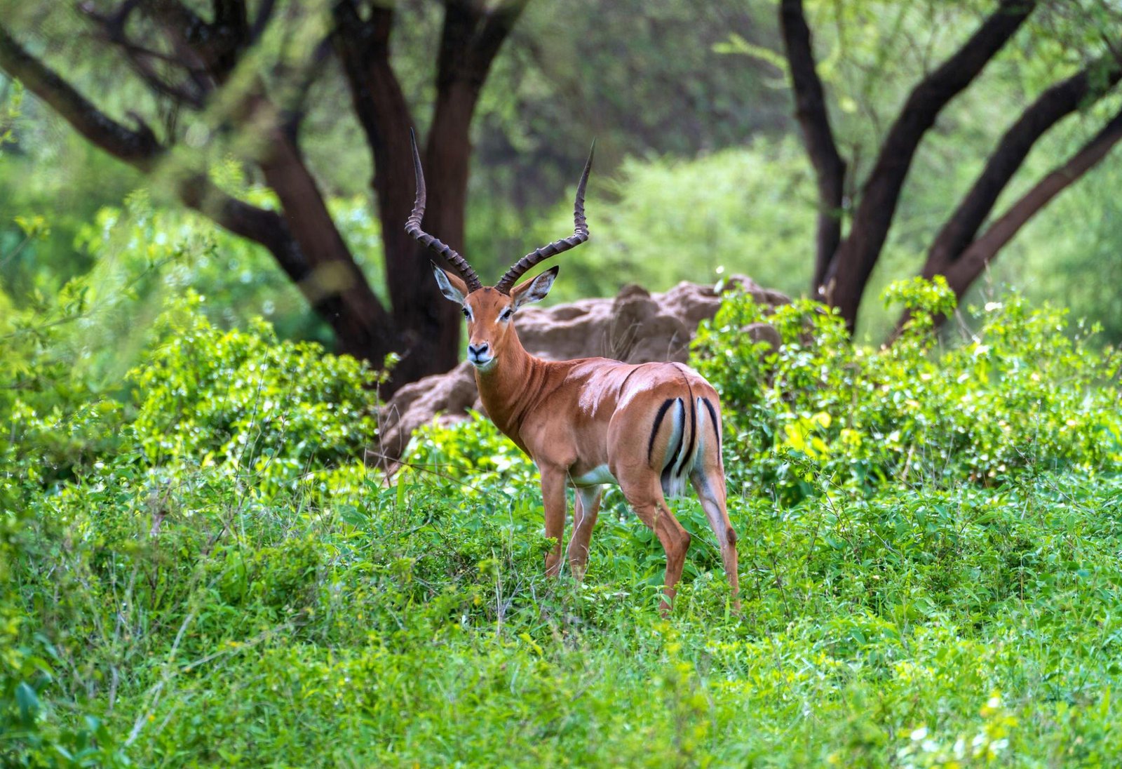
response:
M842 241L842 209L846 164L830 128L822 81L815 64L813 40L802 12L802 0L782 0L780 28L794 91L794 117L818 183L818 236L812 295L824 296L826 271Z

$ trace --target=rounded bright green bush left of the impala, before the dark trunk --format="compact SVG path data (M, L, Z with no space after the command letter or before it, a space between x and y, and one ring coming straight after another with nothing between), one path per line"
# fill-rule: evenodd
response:
M147 464L217 465L268 495L376 445L377 377L365 364L280 341L264 321L222 331L197 312L201 301L160 317L163 341L129 374Z

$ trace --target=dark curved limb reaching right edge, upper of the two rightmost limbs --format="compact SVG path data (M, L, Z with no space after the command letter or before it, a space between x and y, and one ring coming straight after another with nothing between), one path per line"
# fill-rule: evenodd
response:
M1105 94L1120 79L1122 64L1110 56L1056 83L1021 113L1001 137L977 181L936 236L923 265L923 277L944 273L959 257L1037 140L1059 120Z

